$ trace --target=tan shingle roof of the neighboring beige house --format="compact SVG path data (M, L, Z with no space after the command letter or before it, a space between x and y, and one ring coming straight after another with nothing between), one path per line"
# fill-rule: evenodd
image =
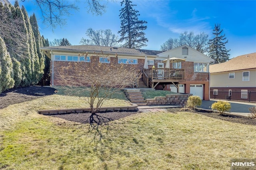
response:
M240 55L224 63L210 65L210 73L256 69L256 53Z

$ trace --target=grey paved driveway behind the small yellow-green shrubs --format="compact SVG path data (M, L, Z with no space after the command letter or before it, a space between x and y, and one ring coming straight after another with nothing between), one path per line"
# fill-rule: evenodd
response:
M202 109L211 109L212 103L218 100L202 101L202 105L199 108ZM236 102L236 101L227 101L231 104L230 112L234 113L250 113L248 108L256 106L256 103L245 103L245 102Z

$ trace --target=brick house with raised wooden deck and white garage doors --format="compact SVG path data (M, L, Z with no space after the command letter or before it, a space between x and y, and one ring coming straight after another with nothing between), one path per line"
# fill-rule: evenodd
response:
M114 64L135 64L142 71L142 80L148 88L159 89L164 87L170 90L172 86L180 93L193 93L203 100L209 100L209 64L214 61L199 51L182 45L169 51L154 51L144 49L129 49L122 47L105 47L96 45L72 45L40 48L51 59L51 84L58 85L55 72L70 62L86 61L90 65L99 62ZM79 53L88 52L85 59ZM95 53L103 53L108 57L98 57ZM170 63L166 68L163 60L167 56L186 59L182 63ZM145 56L147 56L148 69L144 69ZM155 67L155 68L154 68ZM174 67L174 68L173 68ZM174 90L175 91L175 90Z

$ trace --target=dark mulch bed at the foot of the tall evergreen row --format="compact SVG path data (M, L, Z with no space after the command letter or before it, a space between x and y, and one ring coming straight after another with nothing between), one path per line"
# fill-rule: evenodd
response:
M44 86L30 86L9 89L0 93L0 109L4 109L9 105L31 101L44 97L45 95L52 95L56 89Z

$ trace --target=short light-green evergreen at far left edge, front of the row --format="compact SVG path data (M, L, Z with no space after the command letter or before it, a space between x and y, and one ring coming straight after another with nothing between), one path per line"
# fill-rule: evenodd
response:
M4 40L0 37L0 92L14 87L14 79L11 77L12 59L7 52Z

